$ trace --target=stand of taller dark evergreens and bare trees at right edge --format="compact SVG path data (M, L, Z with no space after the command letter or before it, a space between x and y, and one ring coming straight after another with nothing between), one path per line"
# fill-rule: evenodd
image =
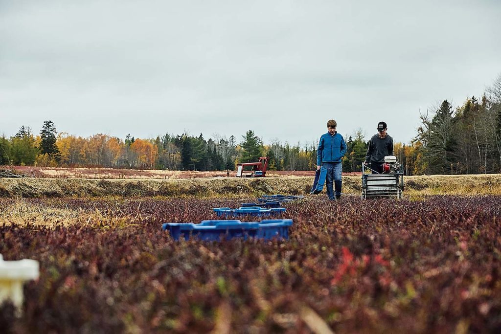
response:
M480 99L453 109L444 100L421 115L414 140L421 148L419 174L499 173L501 170L501 75Z

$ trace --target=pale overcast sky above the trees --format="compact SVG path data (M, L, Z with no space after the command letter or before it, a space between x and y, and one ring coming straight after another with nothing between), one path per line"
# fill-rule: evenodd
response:
M501 1L0 0L0 135L252 129L317 141L419 112L501 73Z

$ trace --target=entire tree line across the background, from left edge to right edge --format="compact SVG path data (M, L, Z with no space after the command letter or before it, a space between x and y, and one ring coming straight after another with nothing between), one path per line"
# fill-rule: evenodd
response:
M501 75L480 99L471 97L454 108L448 100L420 114L416 137L396 142L394 153L407 175L499 173L501 169ZM343 171L361 170L368 140L359 129L345 135ZM317 143L291 145L279 139L264 144L254 131L237 139L202 134L165 134L125 139L105 134L88 138L58 133L45 121L40 134L21 126L16 135L0 137L0 165L112 167L168 170L234 170L235 164L270 158L271 170L314 170Z

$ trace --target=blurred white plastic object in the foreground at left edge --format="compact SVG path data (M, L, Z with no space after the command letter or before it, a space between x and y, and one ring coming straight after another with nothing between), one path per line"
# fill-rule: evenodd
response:
M23 283L37 279L39 264L36 260L4 261L0 254L0 304L10 299L21 309L23 305Z

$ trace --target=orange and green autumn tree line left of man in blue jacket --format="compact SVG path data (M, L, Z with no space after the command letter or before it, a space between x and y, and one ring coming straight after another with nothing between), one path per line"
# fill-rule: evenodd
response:
M316 150L274 141L264 145L252 130L237 140L214 135L206 140L183 133L153 139L124 140L105 134L88 138L58 133L52 121L45 121L40 135L21 126L11 138L0 137L0 165L51 167L112 167L168 170L233 170L239 162L270 156L270 168L308 170L315 165ZM315 158L315 159L314 159Z

